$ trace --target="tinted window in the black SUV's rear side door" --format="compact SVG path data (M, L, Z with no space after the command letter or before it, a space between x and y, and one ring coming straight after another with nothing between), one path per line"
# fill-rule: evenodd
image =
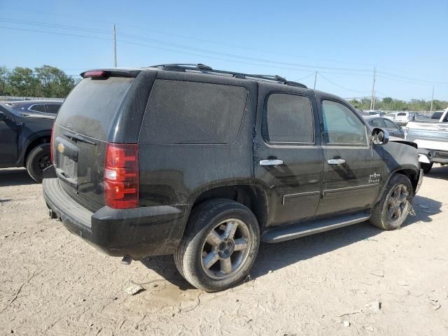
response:
M311 103L307 97L269 95L262 129L266 141L314 143L313 128Z

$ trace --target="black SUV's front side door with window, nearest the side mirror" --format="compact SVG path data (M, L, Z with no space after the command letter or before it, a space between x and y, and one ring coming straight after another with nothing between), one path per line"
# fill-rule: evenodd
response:
M367 127L348 104L318 97L323 129L324 179L317 216L372 207L379 190Z

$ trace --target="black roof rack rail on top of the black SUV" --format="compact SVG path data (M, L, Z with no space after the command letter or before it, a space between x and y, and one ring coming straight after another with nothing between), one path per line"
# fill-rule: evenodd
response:
M150 68L161 68L163 70L171 70L171 71L200 71L201 73L210 73L210 74L224 74L229 75L235 78L240 79L255 79L255 80L267 80L267 81L273 81L276 83L281 83L285 85L290 86L297 86L302 87L304 89L307 89L307 85L304 85L302 83L293 82L290 80L286 80L286 78L277 76L277 75L258 75L258 74L250 74L250 73L240 73L240 72L234 72L234 71L224 71L224 70L216 70L212 69L211 66L198 63L173 63L173 64L159 64L159 65L153 65L148 66Z

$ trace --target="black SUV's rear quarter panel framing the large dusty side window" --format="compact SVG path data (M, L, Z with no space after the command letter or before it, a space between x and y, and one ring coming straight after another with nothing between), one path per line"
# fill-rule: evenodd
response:
M172 71L158 78L192 80L185 73ZM144 144L139 141L141 207L193 204L206 190L247 184L253 178L252 146L258 86L249 81L209 75L197 75L193 81L246 87L248 97L237 139L232 144Z

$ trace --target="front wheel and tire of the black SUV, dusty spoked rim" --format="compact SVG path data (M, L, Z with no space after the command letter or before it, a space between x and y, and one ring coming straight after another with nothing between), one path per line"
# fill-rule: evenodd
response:
M372 209L370 223L383 230L400 228L412 207L413 197L414 190L407 176L393 175L387 183L381 200Z

